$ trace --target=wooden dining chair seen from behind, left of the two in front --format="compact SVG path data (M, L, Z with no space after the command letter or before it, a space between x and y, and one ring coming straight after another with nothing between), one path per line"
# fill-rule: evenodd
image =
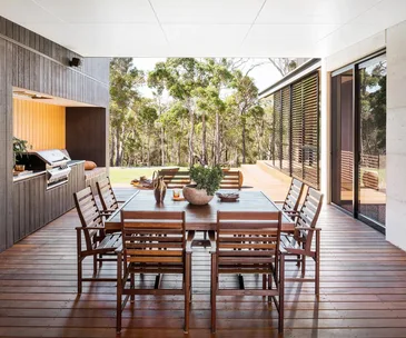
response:
M121 331L121 312L135 295L182 295L185 332L189 330L191 301L191 247L186 241L185 211L121 210L122 248L117 260L117 332ZM122 268L122 264L123 268ZM182 275L181 289L137 289L135 275ZM128 282L128 279L130 281ZM122 296L125 299L122 300Z

